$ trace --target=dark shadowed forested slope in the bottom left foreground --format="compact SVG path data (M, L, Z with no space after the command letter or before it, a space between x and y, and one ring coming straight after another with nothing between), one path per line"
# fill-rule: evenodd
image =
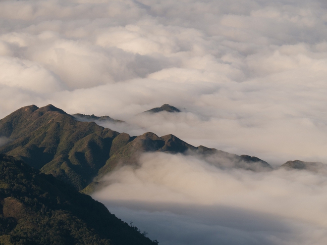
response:
M156 245L91 196L0 154L0 244Z

